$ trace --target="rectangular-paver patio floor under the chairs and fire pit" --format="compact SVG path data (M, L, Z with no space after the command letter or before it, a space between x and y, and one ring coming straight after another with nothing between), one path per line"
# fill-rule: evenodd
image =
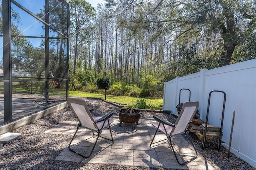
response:
M118 117L112 117L114 122L111 124L114 144L104 138L99 138L94 151L90 158L84 159L81 156L65 148L56 160L97 163L97 164L119 164L125 166L142 166L152 168L172 168L172 169L196 169L196 170L213 170L214 168L206 161L206 159L198 154L198 158L192 162L181 166L170 150L167 140L153 144L150 148L150 142L154 136L156 128L152 126L154 119L140 118L139 125L132 130L129 123L122 123L118 127ZM45 133L74 135L78 122L65 121L56 127L47 130ZM78 130L76 138L73 140L71 147L78 149L81 154L90 152L96 138L92 137L92 131L85 128ZM101 136L110 137L109 129L105 128ZM166 139L165 134L159 132L154 142ZM193 155L192 145L187 142L181 135L172 138L172 142L177 152L181 155ZM91 147L90 147L91 146ZM89 149L89 150L88 150ZM189 159L188 156L183 157L184 160Z

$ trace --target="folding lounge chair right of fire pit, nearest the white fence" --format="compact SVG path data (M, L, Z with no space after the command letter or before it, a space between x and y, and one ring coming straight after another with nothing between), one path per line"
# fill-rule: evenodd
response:
M196 148L194 147L194 144L192 143L192 140L190 139L189 132L188 132L188 125L189 125L190 121L193 119L194 115L196 114L198 106L199 106L198 101L183 103L182 110L180 111L180 115L178 116L178 119L176 120L176 122L174 124L172 124L168 121L165 121L164 119L161 119L160 117L153 116L157 122L152 123L152 125L154 127L156 127L157 129L156 129L154 137L150 143L150 146L153 143L156 133L159 132L158 130L160 130L161 132L166 134L168 143L170 145L170 148L172 148L172 151L174 153L174 156L175 156L178 164L185 165L188 162L191 162L192 160L196 159L197 151L196 151ZM188 138L196 152L196 155L187 161L179 162L176 152L174 151L171 138L172 138L172 136L177 136L177 135L183 134L183 133L186 133L188 135ZM158 141L158 142L161 142L161 141ZM157 143L157 142L155 142L155 143Z

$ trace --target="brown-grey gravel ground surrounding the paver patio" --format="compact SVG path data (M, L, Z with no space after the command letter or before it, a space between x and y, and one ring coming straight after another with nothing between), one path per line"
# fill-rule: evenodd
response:
M22 96L24 97L24 96ZM105 115L110 111L116 111L118 107L106 103L100 99L87 99L89 108L94 108L94 116ZM176 119L170 115L162 113L144 113L141 117L152 118L158 115L170 122ZM115 116L118 116L115 113ZM70 135L45 134L44 131L58 125L62 121L76 121L72 111L69 108L62 109L52 113L42 119L20 127L13 132L22 133L22 136L8 144L0 143L0 170L27 170L27 169L70 169L70 170L152 170L147 167L120 166L111 164L85 164L77 162L67 162L55 160L55 158L66 148L72 138ZM186 138L186 136L184 136ZM227 158L228 151L223 146L221 151L206 148L202 150L201 141L196 135L192 134L191 138L197 151L204 156L210 164L217 170L255 170L252 166L230 154ZM164 170L164 168L158 168Z

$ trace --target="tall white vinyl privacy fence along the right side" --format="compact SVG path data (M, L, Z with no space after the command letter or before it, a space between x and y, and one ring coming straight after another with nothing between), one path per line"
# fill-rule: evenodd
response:
M228 148L233 112L236 111L231 152L256 167L256 59L211 70L201 69L198 73L165 82L164 110L176 113L179 98L180 103L189 101L189 91L180 89L190 89L190 101L200 102L198 110L203 121L206 121L209 93L212 90L226 93L223 146ZM223 101L223 93L212 92L209 124L220 126Z

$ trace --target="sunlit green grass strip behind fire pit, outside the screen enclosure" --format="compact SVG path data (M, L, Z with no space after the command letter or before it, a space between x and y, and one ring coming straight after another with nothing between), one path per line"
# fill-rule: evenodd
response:
M81 91L69 91L70 97L98 97L105 99L105 95L98 93L86 93ZM116 103L120 103L121 105L127 105L128 107L134 107L136 105L136 101L140 99L138 97L128 97L128 96L114 96L114 95L106 95L107 101L112 101ZM146 100L147 104L152 105L152 109L162 109L163 107L163 99L151 99L151 98L143 98Z

